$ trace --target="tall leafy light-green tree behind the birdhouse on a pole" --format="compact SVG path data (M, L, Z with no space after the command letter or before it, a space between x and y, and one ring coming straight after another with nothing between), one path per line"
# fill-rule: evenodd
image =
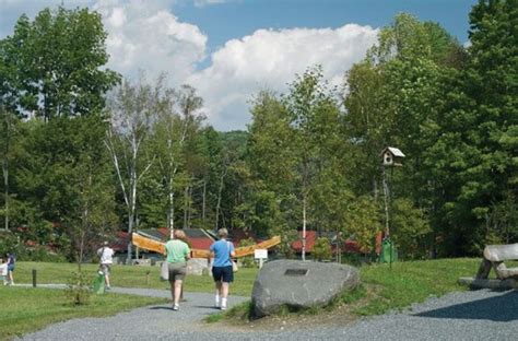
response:
M369 190L378 198L379 153L388 145L400 148L407 157L401 172L391 176L391 192L429 212L437 237L443 230L440 201L449 189L434 170L434 163L443 164L443 153L433 150L445 138L439 128L448 110L445 98L464 62L462 47L444 28L403 13L381 30L378 44L346 80L345 132L353 145L353 169L360 174L353 188L358 195Z

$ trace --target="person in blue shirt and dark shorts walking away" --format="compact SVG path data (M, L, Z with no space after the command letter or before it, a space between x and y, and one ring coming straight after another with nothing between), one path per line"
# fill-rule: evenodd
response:
M228 286L234 281L234 271L232 270L232 257L235 257L234 244L227 242L228 232L226 228L217 231L220 240L211 245L212 278L215 283L215 307L226 310L226 301L228 297ZM221 302L220 302L221 299Z

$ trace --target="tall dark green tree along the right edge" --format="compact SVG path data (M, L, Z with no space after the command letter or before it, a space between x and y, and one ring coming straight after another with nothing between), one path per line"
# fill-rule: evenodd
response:
M463 254L480 252L493 239L494 231L487 226L494 225L496 216L502 222L509 220L498 213L501 208L516 207L517 4L515 0L491 0L473 7L469 60L440 127L450 138L457 168L445 178L452 187L444 204L445 225L456 227L446 236L450 245L462 245L459 251ZM508 240L518 237L517 231L511 235Z

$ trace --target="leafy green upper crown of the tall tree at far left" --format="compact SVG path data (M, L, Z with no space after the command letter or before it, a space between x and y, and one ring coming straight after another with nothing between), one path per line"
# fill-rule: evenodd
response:
M101 14L87 9L45 9L33 22L22 15L0 44L10 91L8 108L44 117L89 115L103 109L118 74L108 61Z

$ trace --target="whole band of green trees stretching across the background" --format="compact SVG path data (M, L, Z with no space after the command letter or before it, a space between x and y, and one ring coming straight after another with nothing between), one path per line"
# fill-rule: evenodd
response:
M256 96L248 131L217 132L197 91L164 77L106 96L119 75L105 68L98 13L22 15L0 40L0 216L13 232L0 250L50 259L57 248L81 263L116 230L224 226L281 235L292 257L304 226L369 252L388 145L407 155L386 173L405 257L514 243L517 16L515 0L479 1L464 48L438 24L398 14L346 72L343 95L326 66L309 67L286 93Z

